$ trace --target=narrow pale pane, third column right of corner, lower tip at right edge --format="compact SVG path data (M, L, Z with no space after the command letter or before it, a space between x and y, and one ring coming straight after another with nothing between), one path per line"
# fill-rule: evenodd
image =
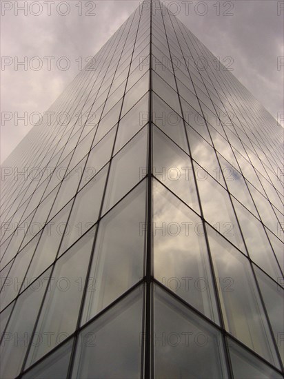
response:
M275 280L281 276L275 256L272 252L269 240L263 229L263 225L257 218L245 209L238 201L234 200L236 215L245 238L245 245L256 265L261 267Z

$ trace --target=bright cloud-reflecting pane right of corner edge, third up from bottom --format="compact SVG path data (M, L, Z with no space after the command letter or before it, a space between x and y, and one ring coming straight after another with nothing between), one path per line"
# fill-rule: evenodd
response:
M190 156L153 127L153 174L196 212L199 204Z

